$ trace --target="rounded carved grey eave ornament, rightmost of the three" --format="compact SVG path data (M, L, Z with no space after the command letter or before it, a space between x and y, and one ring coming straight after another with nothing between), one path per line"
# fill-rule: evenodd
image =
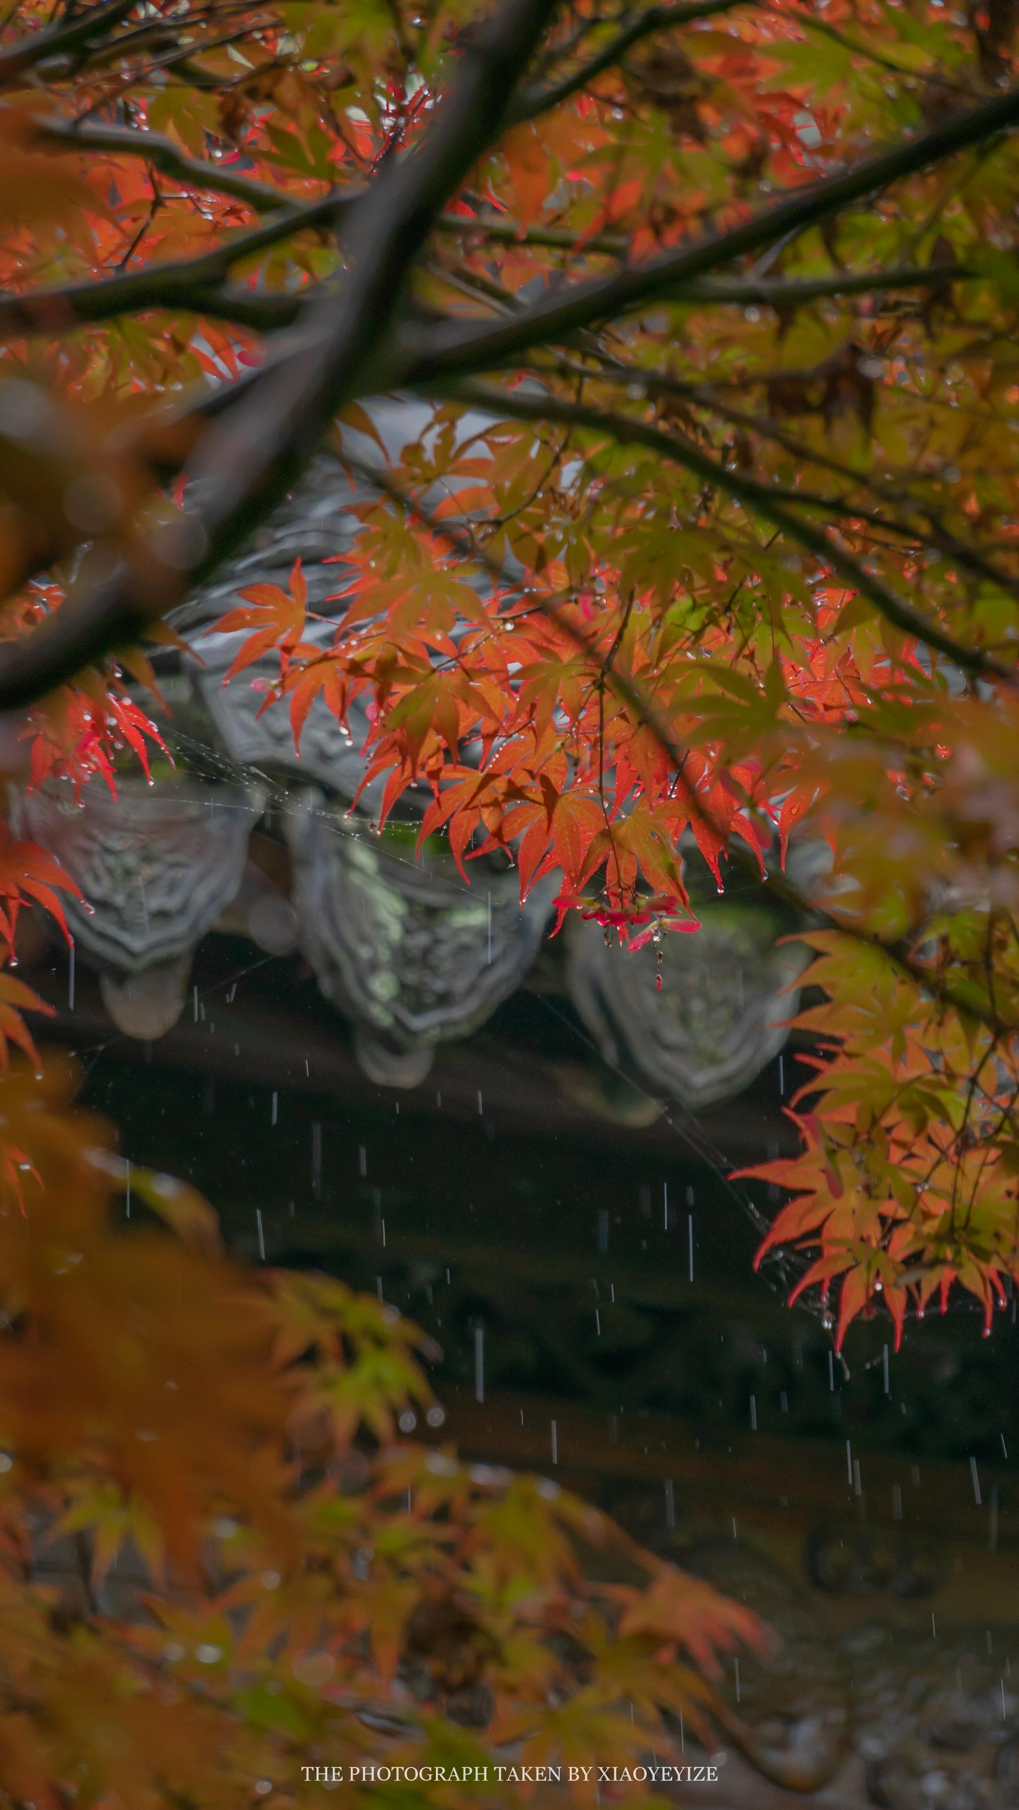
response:
M626 950L612 936L606 947L590 919L570 925L567 956L572 1001L605 1061L690 1108L742 1093L778 1055L809 959L802 943L776 943L766 907L722 896L695 910L700 930L662 932L661 970L653 945Z

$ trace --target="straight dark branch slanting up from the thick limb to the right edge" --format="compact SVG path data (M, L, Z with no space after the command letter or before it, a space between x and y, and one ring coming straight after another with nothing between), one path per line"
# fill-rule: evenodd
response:
M842 176L829 176L782 195L728 232L708 233L693 244L664 252L648 264L579 282L565 293L556 291L516 320L445 329L422 348L411 382L512 364L519 353L539 342L563 340L579 328L597 326L655 299L671 297L681 284L704 277L720 264L731 264L737 257L762 252L786 233L804 232L903 176L912 176L1017 123L1019 89L1012 89L983 107L954 114L919 138L900 139L898 145L867 157Z

